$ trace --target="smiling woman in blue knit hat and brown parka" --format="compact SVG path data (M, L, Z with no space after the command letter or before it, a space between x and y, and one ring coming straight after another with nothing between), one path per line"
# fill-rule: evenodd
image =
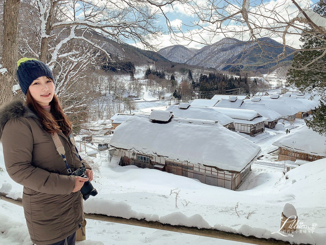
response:
M71 123L54 94L51 70L36 59L22 58L16 72L22 101L0 109L0 140L6 170L23 188L23 208L31 240L37 245L75 244L76 230L84 219L84 182L87 178L69 174L82 166L75 148ZM65 149L65 163L55 139ZM58 144L58 141L56 142Z

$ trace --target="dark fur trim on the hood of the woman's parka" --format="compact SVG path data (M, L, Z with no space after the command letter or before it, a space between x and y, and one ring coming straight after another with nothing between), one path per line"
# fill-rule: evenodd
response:
M0 140L3 128L10 119L19 117L36 117L37 115L22 100L16 99L0 107Z

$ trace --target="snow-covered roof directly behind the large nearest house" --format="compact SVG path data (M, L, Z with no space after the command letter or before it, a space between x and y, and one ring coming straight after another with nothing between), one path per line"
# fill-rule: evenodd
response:
M180 109L177 105L171 105L167 110L173 111L173 114L176 117L218 121L218 123L223 126L234 122L232 118L212 107L189 106L187 109Z

